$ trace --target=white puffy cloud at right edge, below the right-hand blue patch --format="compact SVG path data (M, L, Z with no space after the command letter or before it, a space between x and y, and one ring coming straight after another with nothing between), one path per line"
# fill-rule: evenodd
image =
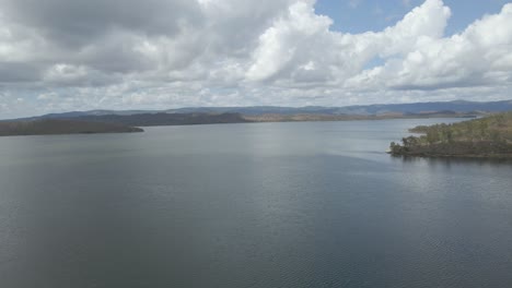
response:
M511 85L512 4L451 37L420 37L398 59L356 81L397 89Z

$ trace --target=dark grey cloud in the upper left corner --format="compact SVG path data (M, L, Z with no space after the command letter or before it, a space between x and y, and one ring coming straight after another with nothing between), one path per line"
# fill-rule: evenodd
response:
M183 26L200 25L196 1L187 0L2 0L4 15L37 27L46 38L80 47L110 31L177 35Z

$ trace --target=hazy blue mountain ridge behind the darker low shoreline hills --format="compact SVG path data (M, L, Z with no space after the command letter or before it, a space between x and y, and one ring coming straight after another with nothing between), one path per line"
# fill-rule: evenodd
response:
M38 120L38 119L72 119L86 117L105 116L135 116L135 115L188 115L188 113L238 113L248 117L258 116L296 116L296 115L322 115L322 116L412 116L426 113L487 113L512 110L512 100L502 101L435 101L435 103L412 103L412 104L385 104L385 105L358 105L346 107L276 107L276 106L253 106L253 107L189 107L166 110L91 110L72 111L63 113L49 113L38 117L31 117L15 120ZM159 116L162 117L162 116Z

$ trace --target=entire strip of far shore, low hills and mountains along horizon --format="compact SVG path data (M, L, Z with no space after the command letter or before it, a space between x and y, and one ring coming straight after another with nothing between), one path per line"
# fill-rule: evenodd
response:
M477 117L512 111L512 100L447 101L347 107L197 107L167 110L91 110L0 121L0 135L137 132L135 127L245 122L347 121Z

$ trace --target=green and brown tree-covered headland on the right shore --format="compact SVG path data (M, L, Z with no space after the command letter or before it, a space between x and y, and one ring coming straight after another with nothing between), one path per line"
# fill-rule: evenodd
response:
M512 112L453 124L420 125L402 144L391 143L389 154L420 157L479 157L512 159Z

